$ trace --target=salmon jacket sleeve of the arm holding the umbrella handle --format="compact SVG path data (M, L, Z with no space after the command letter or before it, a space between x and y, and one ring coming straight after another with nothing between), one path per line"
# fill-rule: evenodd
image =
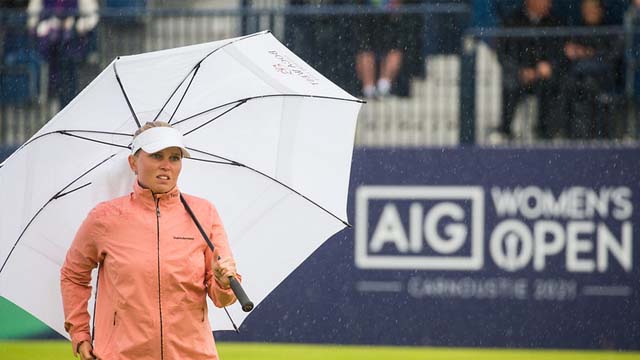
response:
M211 211L213 222L209 232L209 238L221 257L233 257L231 247L229 246L229 241L227 239L227 233L224 231L224 226L222 225L222 220L220 220L218 211L213 206L211 207ZM209 297L217 307L224 307L233 304L236 301L236 296L233 294L233 290L223 289L215 280L213 269L211 268L213 252L208 247L205 253L205 258L205 284L207 285L207 293L209 294ZM239 274L237 279L238 281L242 281Z

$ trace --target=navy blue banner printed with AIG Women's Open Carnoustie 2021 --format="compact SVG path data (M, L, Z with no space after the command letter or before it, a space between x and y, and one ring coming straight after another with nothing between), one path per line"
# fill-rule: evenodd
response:
M353 228L216 336L638 350L639 169L637 149L358 150Z

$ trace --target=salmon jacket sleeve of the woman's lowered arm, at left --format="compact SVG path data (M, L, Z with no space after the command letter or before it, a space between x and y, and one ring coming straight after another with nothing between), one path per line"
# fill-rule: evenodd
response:
M97 217L94 209L84 220L60 270L64 328L71 335L74 355L80 342L91 342L87 306L91 297L91 271L98 266L96 239L102 233Z

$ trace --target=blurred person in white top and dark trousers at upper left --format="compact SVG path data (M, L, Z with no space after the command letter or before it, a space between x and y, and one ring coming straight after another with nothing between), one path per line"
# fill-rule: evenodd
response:
M28 28L49 64L49 96L60 107L77 92L78 65L88 51L88 34L98 23L97 0L30 0Z

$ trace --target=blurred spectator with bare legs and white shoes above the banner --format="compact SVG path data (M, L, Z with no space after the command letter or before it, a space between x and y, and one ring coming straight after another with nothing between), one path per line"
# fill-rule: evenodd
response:
M355 21L354 31L358 46L356 73L362 84L362 95L365 98L387 96L402 66L403 23L401 15L393 13L401 6L401 0L358 2L388 11L384 14L360 15Z

